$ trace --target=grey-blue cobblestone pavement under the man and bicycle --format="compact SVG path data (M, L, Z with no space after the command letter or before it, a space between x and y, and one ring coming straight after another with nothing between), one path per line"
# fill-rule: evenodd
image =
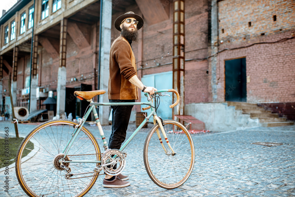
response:
M0 122L0 132L13 124ZM19 124L20 136L36 125ZM97 127L86 126L99 136ZM295 196L295 126L251 128L239 131L192 134L196 158L194 170L184 185L165 190L155 185L145 171L143 144L152 127L143 128L130 142L124 174L131 185L126 188L104 188L102 178L85 196ZM103 126L105 136L111 126ZM131 124L127 137L135 130ZM282 143L262 146L256 142ZM99 141L102 146L101 141ZM2 151L2 150L1 150ZM26 196L19 186L15 169L9 169L9 193L4 191L4 172L0 172L0 196Z

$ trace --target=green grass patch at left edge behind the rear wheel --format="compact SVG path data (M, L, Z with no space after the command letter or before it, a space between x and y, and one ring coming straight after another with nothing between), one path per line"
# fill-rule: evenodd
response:
M9 161L8 164L13 164L15 162L15 157L17 155L17 150L19 148L19 145L22 143L22 140L24 138L9 138L9 142L8 142L8 156L6 155L7 152L5 152L5 146L7 146L7 142L5 142L4 138L0 139L0 168L2 167L6 167L5 166L5 162ZM7 140L6 140L7 141ZM29 149L34 149L34 144L32 143L28 143L27 148ZM27 154L29 154L31 151L30 150L24 150L23 156L26 156Z

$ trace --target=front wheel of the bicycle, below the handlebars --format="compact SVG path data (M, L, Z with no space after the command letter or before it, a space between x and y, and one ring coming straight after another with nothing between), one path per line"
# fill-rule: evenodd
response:
M189 178L195 160L194 143L187 129L174 120L164 120L164 130L175 155L163 139L159 124L155 124L145 139L143 160L145 169L151 180L165 189L174 189ZM163 139L165 153L157 135L157 129ZM170 153L170 154L169 154Z

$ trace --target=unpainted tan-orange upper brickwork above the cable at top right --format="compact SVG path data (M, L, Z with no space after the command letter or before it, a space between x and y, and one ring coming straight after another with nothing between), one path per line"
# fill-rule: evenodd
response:
M219 37L224 43L240 43L260 37L261 33L271 35L295 27L294 0L225 0L218 6Z

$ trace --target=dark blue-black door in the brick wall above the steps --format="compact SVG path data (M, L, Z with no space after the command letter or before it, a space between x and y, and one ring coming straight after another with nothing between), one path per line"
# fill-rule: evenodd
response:
M225 61L225 100L247 101L246 58Z

